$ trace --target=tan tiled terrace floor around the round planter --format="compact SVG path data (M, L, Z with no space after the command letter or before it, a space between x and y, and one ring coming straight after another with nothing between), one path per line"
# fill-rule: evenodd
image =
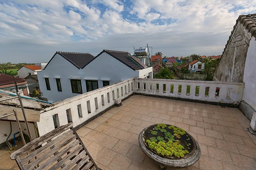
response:
M199 161L184 169L256 169L256 135L247 131L250 122L237 108L134 95L77 132L103 170L158 170L138 144L141 130L156 123L179 126L200 144ZM15 168L0 150L0 170Z

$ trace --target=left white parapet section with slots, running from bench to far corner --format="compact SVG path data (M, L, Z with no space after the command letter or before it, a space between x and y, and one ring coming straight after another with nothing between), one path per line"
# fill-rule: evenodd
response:
M69 110L69 119L72 120L74 127L76 127L113 106L115 99L122 100L133 94L133 87L134 79L132 78L55 102L40 114L40 122L37 122L39 135L42 136L54 130L54 115L58 115L56 119L58 119L58 126L61 126L68 123L66 110Z

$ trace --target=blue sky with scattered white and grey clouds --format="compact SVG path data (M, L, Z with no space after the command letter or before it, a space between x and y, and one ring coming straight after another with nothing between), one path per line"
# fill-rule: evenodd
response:
M153 47L219 55L256 0L0 0L0 62L48 62L56 51Z

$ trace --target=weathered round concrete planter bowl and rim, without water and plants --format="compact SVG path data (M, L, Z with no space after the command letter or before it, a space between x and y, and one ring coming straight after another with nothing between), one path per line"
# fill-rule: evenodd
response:
M150 148L147 147L147 143L144 139L144 134L145 131L152 127L152 126L157 126L157 124L153 124L151 126L148 126L145 128L140 134L139 134L139 146L141 147L141 150L153 161L155 161L158 165L161 167L174 167L174 168L185 168L187 166L191 166L194 163L198 161L201 155L201 150L200 147L197 143L197 141L189 134L186 132L186 135L189 135L189 137L192 139L194 143L194 148L189 152L189 154L186 154L183 158L178 158L174 156L169 156L169 157L163 157ZM168 125L167 126L171 126ZM165 168L163 168L165 169Z

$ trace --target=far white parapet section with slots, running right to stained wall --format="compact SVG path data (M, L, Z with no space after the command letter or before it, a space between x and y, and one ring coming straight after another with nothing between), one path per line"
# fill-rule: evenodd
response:
M237 105L244 83L134 78L134 87L135 93Z

